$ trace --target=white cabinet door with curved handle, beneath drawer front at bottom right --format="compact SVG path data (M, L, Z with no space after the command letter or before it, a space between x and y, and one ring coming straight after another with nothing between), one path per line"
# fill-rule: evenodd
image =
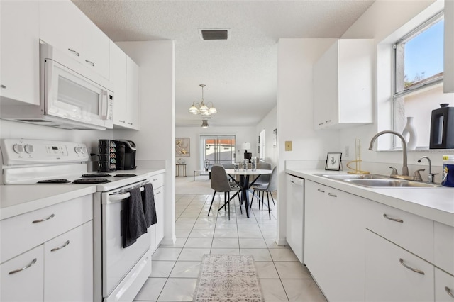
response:
M365 232L365 301L433 301L433 265Z

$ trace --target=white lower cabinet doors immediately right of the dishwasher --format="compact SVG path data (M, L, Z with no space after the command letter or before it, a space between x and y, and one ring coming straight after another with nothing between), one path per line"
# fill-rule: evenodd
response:
M304 262L328 301L364 300L364 198L306 180Z

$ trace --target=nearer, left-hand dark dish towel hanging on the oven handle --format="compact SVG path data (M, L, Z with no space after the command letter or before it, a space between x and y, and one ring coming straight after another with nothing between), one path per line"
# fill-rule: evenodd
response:
M125 221L123 223L123 227L125 228L123 232L123 247L132 245L137 241L138 237L147 233L140 189L132 189L129 193L131 196L128 198L128 202L126 202Z

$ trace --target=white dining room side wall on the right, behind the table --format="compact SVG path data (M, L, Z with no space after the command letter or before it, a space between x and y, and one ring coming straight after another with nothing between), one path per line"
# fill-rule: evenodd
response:
M277 166L277 147L273 146L272 131L277 128L277 106L262 118L255 128L255 141L258 141L260 131L265 130L265 162L271 162L272 167ZM279 132L277 133L279 136ZM257 150L257 147L255 148Z

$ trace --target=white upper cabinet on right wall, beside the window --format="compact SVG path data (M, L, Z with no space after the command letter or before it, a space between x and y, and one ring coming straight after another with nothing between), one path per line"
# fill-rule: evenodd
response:
M373 40L337 40L314 64L314 128L372 123Z

